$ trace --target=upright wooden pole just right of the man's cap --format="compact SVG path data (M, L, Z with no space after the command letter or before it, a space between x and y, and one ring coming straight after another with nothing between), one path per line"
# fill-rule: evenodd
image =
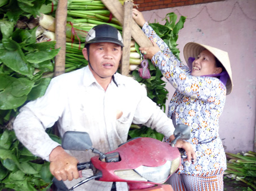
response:
M123 55L122 55L122 65L121 65L121 74L128 76L129 75L129 66L130 66L130 44L131 44L131 13L133 11L133 2L126 1L123 4Z

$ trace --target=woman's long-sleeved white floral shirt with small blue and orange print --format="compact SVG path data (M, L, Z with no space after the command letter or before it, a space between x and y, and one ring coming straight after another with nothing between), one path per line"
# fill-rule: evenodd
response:
M219 116L226 100L225 85L218 78L192 76L147 22L142 29L162 51L153 56L152 63L176 89L168 116L175 116L177 123L191 127L188 142L196 152L196 163L183 161L178 173L197 176L222 173L227 169L226 154L218 131Z

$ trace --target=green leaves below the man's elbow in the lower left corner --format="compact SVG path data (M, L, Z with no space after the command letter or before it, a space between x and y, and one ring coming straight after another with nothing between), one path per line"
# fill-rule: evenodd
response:
M49 134L56 142L60 140ZM28 151L14 131L0 129L0 190L47 190L51 186L50 163Z

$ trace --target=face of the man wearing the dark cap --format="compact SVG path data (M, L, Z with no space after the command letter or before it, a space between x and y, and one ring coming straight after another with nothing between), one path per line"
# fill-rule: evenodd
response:
M90 70L95 79L112 78L117 71L122 56L121 46L114 43L94 43L90 44L89 61ZM83 56L88 60L87 49L83 49Z

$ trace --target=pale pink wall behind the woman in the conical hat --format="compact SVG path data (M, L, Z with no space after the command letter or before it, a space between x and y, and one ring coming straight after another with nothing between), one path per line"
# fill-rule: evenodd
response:
M256 112L256 1L226 0L191 6L144 11L146 21L164 24L166 13L187 16L178 48L184 62L187 42L207 44L229 53L233 92L220 116L220 138L227 152L253 151ZM169 100L174 88L167 84ZM166 104L168 104L167 101Z

